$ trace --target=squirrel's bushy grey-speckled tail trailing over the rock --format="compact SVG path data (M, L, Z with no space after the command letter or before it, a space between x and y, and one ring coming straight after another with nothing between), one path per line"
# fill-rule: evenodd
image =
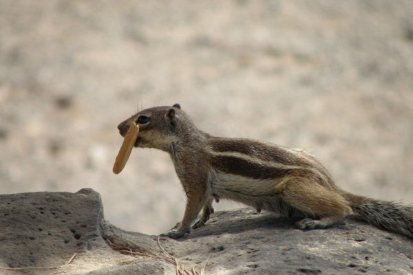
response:
M413 206L403 206L392 201L379 201L345 192L357 218L383 228L413 238Z

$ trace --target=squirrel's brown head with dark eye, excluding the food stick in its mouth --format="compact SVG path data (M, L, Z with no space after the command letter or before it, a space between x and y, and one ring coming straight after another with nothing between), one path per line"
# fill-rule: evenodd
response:
M184 132L193 127L191 119L180 109L180 104L173 106L152 107L138 111L118 125L119 133L125 137L132 122L139 125L135 147L157 148L168 151L173 142L178 142Z

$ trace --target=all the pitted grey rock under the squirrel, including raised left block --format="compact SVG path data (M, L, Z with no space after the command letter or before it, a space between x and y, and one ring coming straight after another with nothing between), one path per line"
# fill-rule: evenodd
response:
M216 212L173 240L111 225L92 189L1 195L0 205L0 274L413 272L411 239L359 221L301 231L291 219L245 208Z

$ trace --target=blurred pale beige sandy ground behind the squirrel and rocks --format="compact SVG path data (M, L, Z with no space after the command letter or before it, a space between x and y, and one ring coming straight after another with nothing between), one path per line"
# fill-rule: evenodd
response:
M112 165L119 122L176 102L212 135L304 148L342 188L413 203L411 0L0 1L0 193L89 187L114 225L168 230L185 204L169 156Z

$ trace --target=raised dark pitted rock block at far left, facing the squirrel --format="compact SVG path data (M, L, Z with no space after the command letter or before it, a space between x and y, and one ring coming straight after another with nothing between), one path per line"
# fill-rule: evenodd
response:
M103 208L91 189L1 195L0 203L3 266L63 265L99 238Z

